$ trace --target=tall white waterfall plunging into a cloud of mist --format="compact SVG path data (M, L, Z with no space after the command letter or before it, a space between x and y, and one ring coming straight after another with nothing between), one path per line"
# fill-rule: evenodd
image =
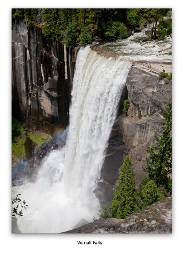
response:
M29 205L17 221L22 233L59 233L97 216L95 189L131 65L79 50L66 145L44 158L34 183L13 188Z

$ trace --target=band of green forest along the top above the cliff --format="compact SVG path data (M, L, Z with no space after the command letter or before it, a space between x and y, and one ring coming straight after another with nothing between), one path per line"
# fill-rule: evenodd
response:
M41 27L45 37L59 42L64 41L70 47L86 45L95 37L107 40L126 38L126 26L137 30L143 29L143 40L146 40L147 24L148 38L151 35L151 40L163 39L172 31L171 17L168 16L170 10L166 8L44 8ZM35 8L12 9L12 18L26 19L27 26L30 27L36 24L36 16L40 11L41 9ZM153 24L151 31L150 23ZM75 31L74 28L76 28Z

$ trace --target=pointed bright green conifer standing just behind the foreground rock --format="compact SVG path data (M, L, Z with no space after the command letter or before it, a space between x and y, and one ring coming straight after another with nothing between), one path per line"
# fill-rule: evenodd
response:
M136 205L135 173L132 170L131 158L127 155L123 165L119 168L119 176L115 183L112 199L112 216L126 219L138 208Z

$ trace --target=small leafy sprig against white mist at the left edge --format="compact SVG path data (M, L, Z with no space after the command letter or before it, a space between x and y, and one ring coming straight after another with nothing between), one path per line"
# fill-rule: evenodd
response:
M14 183L11 183L11 187L15 187ZM16 197L11 197L11 216L15 217L17 216L23 216L23 212L22 210L20 210L18 212L18 208L21 206L21 208L25 208L25 206L28 206L28 204L26 204L27 202L24 200L22 201L22 199L20 199L21 194L17 194Z

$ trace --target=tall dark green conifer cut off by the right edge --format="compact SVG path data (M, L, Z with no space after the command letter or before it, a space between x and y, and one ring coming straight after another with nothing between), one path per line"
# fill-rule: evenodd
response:
M147 148L145 172L149 180L153 180L157 187L163 187L167 193L172 193L172 102L163 109L162 135L155 137L155 144Z

